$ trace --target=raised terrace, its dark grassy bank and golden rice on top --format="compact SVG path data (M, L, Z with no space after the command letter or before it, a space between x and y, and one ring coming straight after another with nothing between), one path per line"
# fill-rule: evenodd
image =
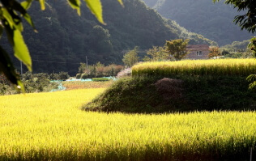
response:
M255 59L146 62L132 68L132 78L114 83L83 109L142 113L255 110L256 92L248 90L245 79L255 73ZM180 87L173 87L181 96L158 90L156 82L162 78L181 80Z

